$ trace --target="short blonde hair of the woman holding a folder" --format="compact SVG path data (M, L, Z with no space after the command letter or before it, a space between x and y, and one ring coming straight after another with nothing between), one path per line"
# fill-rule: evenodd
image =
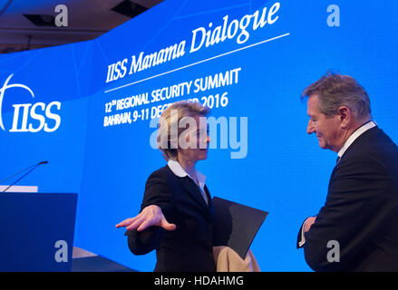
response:
M163 153L166 160L177 158L179 148L181 119L185 117L206 117L210 112L209 107L202 106L199 102L180 101L172 103L160 116L158 126L158 148ZM177 132L171 130L177 128ZM177 133L177 134L176 134Z

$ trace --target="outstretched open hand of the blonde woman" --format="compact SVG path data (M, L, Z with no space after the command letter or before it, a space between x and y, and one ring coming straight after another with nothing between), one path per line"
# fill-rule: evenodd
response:
M126 227L127 230L137 228L137 231L139 232L151 226L163 227L166 230L176 229L176 225L170 224L166 218L164 218L161 209L155 205L142 209L141 213L137 217L127 218L116 225L118 228Z

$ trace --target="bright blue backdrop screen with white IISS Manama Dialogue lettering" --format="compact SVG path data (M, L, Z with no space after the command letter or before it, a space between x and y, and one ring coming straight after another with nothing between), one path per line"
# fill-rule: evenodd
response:
M150 145L153 121L165 104L198 99L228 126L227 145L210 132L198 163L210 193L269 212L251 246L262 271L310 271L297 231L323 206L336 155L306 134L303 89L329 69L354 76L374 121L398 140L398 6L330 5L166 0L92 41L1 55L0 179L49 160L21 185L78 193L75 246L152 271L154 253L133 256L114 225L138 213L146 179L165 164ZM185 91L161 100L174 85Z

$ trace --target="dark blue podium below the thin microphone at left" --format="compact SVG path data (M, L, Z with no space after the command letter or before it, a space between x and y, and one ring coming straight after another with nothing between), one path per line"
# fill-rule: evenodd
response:
M0 194L0 271L71 271L77 194Z

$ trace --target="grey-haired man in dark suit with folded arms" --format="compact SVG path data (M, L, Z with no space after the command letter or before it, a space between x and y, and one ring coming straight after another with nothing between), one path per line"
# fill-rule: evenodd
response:
M325 206L297 237L315 271L398 271L398 148L372 121L352 77L327 73L302 93L307 133L337 152Z

